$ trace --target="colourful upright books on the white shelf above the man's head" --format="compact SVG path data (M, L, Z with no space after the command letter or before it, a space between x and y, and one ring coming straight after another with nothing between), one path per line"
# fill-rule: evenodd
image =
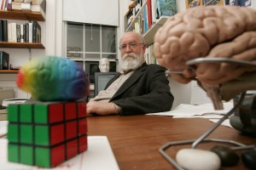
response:
M172 16L174 14L177 14L176 0L137 0L135 7L131 8L126 14L127 26L135 20L134 31L144 33L161 16Z

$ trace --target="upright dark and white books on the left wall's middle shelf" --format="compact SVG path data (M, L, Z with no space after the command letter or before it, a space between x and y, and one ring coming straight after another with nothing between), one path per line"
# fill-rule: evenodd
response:
M0 20L0 42L41 42L41 26L36 20L26 24Z

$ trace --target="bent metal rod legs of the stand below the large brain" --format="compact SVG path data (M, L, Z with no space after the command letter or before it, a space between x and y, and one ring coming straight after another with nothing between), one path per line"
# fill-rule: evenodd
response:
M177 164L176 161L174 161L172 159L171 156L169 156L165 150L167 150L168 148L172 147L173 145L182 145L182 144L192 144L191 148L195 149L198 144L200 144L201 142L219 142L219 143L227 143L227 144L234 144L237 147L232 147L232 150L247 150L247 149L252 149L255 148L256 149L256 145L246 145L246 144L241 144L238 143L234 140L226 140L226 139L206 139L208 135L210 135L222 122L224 122L224 120L226 118L228 118L231 114L233 114L234 111L236 111L239 106L241 105L244 97L245 97L246 92L241 94L241 98L239 100L239 102L233 107L233 109L231 109L225 116L223 116L218 122L216 122L209 130L207 130L206 133L203 133L201 135L201 137L199 137L198 139L195 140L183 140L183 141L177 141L177 142L170 142L167 143L165 145L163 145L162 147L160 147L159 151L161 153L162 156L164 156L166 158L167 161L169 161L170 163L172 163L172 165L174 167L176 167L177 169L183 170L183 167L181 167L180 165Z

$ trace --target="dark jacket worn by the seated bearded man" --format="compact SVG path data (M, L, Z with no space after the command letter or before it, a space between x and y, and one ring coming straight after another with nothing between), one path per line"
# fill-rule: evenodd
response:
M170 111L174 97L165 71L160 65L144 63L125 81L109 102L122 108L122 116ZM113 77L106 88L120 75L118 73Z

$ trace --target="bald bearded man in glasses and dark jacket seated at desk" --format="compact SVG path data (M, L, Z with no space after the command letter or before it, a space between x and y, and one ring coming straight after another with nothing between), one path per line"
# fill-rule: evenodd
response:
M126 32L119 41L121 69L106 88L90 99L88 115L141 115L170 111L174 97L165 75L166 68L147 65L143 37Z

